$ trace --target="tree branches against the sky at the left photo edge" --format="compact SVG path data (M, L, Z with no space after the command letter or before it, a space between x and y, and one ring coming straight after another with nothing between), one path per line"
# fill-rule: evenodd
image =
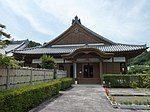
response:
M6 29L6 26L0 24L0 47L4 47L5 45L10 43L10 34L5 33L3 29ZM2 38L2 36L4 37L4 39Z

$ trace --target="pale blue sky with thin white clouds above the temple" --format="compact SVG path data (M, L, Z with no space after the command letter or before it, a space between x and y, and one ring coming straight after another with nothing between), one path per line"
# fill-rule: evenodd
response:
M150 0L0 0L0 23L15 40L48 42L77 15L94 32L119 43L150 46Z

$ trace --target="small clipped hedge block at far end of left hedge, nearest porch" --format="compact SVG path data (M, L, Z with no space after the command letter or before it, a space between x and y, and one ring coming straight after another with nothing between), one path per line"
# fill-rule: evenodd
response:
M72 85L72 78L62 78L61 81L61 90L66 90Z

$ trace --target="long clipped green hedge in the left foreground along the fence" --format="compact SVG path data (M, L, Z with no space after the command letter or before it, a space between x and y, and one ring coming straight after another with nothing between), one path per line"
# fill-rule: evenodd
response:
M54 80L0 93L0 112L27 112L59 93L61 81Z

